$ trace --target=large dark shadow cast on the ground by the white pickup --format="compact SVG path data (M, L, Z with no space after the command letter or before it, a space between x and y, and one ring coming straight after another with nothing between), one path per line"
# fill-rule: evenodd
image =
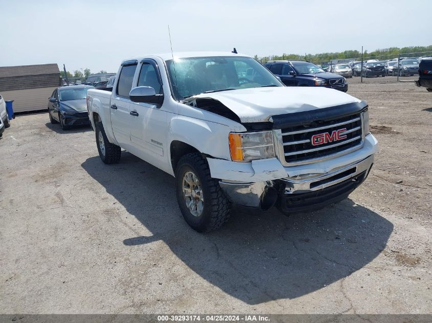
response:
M393 230L391 222L347 199L290 217L274 209L235 213L220 230L199 234L181 218L174 179L122 154L117 165L97 156L82 167L153 234L123 243L163 240L199 276L247 304L293 299L349 276L380 254Z

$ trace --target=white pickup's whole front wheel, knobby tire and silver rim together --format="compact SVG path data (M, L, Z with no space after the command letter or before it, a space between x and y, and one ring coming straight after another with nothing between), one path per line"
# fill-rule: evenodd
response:
M181 157L175 170L177 202L192 229L208 232L220 228L230 217L231 203L210 176L207 160L199 153Z

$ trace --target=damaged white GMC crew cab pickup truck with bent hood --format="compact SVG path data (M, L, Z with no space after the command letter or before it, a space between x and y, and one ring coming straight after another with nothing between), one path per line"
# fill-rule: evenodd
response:
M290 214L339 202L378 150L365 102L285 87L245 55L147 55L123 61L117 76L112 92L87 92L102 161L118 163L124 148L173 175L199 232L219 228L233 205Z

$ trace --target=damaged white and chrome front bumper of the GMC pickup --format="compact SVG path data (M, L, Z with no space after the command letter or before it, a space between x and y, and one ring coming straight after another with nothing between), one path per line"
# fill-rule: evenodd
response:
M378 143L370 134L359 150L313 164L283 167L276 158L251 163L208 161L212 177L221 179L219 184L233 203L266 209L276 202L276 193L282 209L291 206L290 212L300 212L346 198L366 179L377 151Z

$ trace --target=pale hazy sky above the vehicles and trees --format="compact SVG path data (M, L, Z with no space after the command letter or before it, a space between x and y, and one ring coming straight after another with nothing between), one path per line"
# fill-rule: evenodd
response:
M432 12L430 0L271 3L0 0L0 66L117 72L125 58L169 52L168 24L174 52L236 47L267 56L432 44L431 19L421 14Z

